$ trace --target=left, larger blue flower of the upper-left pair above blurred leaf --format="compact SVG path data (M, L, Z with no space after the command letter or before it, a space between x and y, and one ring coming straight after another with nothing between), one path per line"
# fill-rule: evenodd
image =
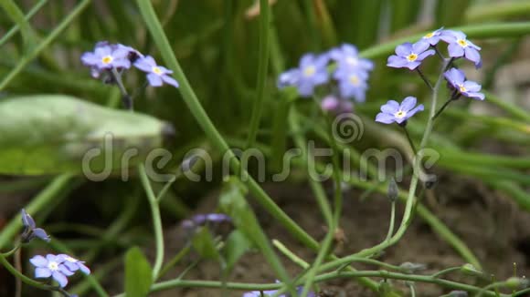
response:
M81 61L84 65L101 71L103 69L111 68L125 68L131 67L129 60L130 51L123 46L110 45L107 42L96 44L93 52L86 52L81 56Z

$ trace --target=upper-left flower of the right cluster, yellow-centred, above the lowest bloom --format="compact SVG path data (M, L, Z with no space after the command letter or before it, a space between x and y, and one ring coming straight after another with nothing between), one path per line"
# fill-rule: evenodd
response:
M414 70L419 67L423 59L434 55L434 53L434 50L429 49L429 43L417 42L411 44L406 42L396 47L396 55L388 56L387 67L407 67L410 70Z

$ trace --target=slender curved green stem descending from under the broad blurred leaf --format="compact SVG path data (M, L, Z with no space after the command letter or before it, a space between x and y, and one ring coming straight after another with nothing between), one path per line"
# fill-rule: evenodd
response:
M154 195L154 190L151 187L151 181L145 172L145 166L140 164L138 166L138 173L140 180L142 181L143 189L149 200L149 207L151 208L151 214L153 216L153 228L154 228L154 242L156 246L156 257L153 265L153 280L156 281L160 269L162 268L162 262L164 261L164 233L162 229L162 220L160 218L160 209L158 208L158 201Z

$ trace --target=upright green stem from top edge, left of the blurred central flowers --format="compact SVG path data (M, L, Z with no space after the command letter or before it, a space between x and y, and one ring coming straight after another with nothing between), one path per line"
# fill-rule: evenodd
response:
M252 148L260 128L261 109L263 107L263 98L265 97L265 87L267 82L267 73L269 67L269 40L270 40L270 7L269 0L260 0L260 52L258 60L258 78L256 84L256 100L252 108L250 118L249 138L247 139L247 148Z

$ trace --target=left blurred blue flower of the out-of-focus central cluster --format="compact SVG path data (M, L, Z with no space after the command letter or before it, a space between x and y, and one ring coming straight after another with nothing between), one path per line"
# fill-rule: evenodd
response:
M302 97L311 97L314 87L326 83L329 79L327 62L329 56L306 54L300 59L298 68L290 69L281 74L279 87L295 86Z

